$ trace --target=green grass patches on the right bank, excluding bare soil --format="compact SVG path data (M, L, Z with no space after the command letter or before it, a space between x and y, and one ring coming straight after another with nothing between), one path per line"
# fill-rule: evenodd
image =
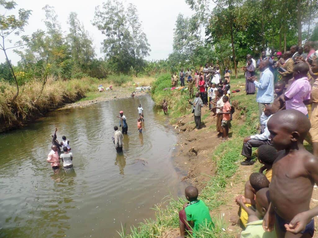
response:
M204 200L210 211L217 210L221 205L225 204L225 188L229 185L229 181L233 178L239 168L239 162L242 160L240 155L242 149L242 141L245 136L254 134L258 127L257 103L255 96L245 95L243 85L245 84L244 76L231 80L231 89L240 88L242 92L232 93L231 101L236 107L233 115L232 127L230 133L232 136L229 141L219 144L211 155L211 163L214 164L216 170L210 180L206 182L205 187L200 191L200 198ZM162 75L153 83L152 97L156 104L160 104L163 99L169 102L170 117L173 120L176 117L187 115L190 112L188 99L188 91L163 90L170 87L170 76ZM214 125L206 125L213 127ZM204 134L202 134L204 138ZM213 142L211 142L213 144ZM179 227L178 211L182 208L184 198L174 200L166 199L160 205L156 205L154 210L156 220L145 220L138 228L131 228L127 231L123 228L120 235L126 238L141 237L172 237L171 230ZM232 237L231 232L227 230L227 221L221 215L212 217L215 221L215 229L203 228L197 237Z

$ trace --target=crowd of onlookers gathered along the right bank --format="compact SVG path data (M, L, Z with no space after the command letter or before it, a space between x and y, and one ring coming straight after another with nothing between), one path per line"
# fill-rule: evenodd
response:
M260 133L244 139L242 165L255 163L252 148L257 147L259 172L252 173L245 183L244 195L235 198L238 216L230 221L242 232L238 237L313 237L314 217L318 207L309 204L315 183L318 183L318 42L294 45L290 50L261 53L256 61L247 55L245 93L256 93L259 108ZM212 66L213 67L213 66ZM205 69L205 70L204 70ZM259 78L255 70L259 69ZM171 77L172 86L180 78L188 81L190 97L198 88L192 112L196 128L200 128L201 107L209 104L217 116L219 136L228 137L228 122L232 119L229 102L230 72L220 81L219 69L205 68L195 72L180 71ZM194 79L192 78L194 76ZM218 79L218 82L213 82ZM256 90L257 89L257 90ZM210 94L211 92L211 94ZM253 98L251 97L251 100ZM217 124L218 125L218 124ZM308 133L309 132L309 133ZM304 147L304 140L312 144L313 154ZM195 235L202 224L214 227L204 202L198 200L198 190L186 188L189 202L179 212L181 237L187 232Z

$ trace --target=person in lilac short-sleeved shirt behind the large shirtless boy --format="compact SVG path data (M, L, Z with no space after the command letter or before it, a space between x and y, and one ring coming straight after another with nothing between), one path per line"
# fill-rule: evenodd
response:
M307 63L298 63L294 66L294 82L285 92L286 109L296 109L308 116L306 105L309 104L311 86L308 82L307 73L309 66ZM306 104L306 105L305 105Z

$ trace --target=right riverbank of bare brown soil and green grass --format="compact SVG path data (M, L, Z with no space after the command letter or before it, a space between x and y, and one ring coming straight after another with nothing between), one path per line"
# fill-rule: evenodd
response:
M258 129L255 95L245 95L244 83L243 76L231 80L231 90L242 91L231 95L231 102L236 112L231 122L230 140L226 142L220 142L216 138L216 121L211 118L206 107L202 112L203 127L195 130L193 115L190 114L191 106L187 102L188 91L164 90L170 87L169 75L159 77L152 85L152 97L157 105L160 105L162 99L168 100L170 122L179 134L176 146L177 166L189 171L184 177L185 180L201 188L200 198L209 207L216 223L214 230L203 228L197 237L232 237L232 232L227 228L227 220L219 216L218 211L226 202L225 188L230 181L232 183L232 178L236 176L239 162L242 160L240 152L243 138L256 133ZM183 202L184 198L177 200L170 198L156 205L155 221L145 220L130 232L126 232L123 228L121 237L176 237L179 235L178 211L182 208Z

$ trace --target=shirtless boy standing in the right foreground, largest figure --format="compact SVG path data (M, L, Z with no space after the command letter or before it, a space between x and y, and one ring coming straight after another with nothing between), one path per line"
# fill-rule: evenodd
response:
M307 116L295 109L278 111L267 122L270 139L279 153L273 163L269 186L270 207L263 228L277 237L312 237L318 207L309 208L314 184L318 182L318 159L303 145L310 129Z

